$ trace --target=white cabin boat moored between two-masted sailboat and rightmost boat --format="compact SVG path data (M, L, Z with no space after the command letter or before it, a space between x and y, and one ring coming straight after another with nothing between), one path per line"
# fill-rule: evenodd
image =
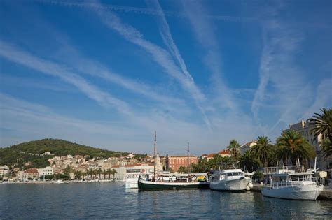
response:
M210 181L210 189L219 191L245 191L252 187L251 178L241 169L215 170Z

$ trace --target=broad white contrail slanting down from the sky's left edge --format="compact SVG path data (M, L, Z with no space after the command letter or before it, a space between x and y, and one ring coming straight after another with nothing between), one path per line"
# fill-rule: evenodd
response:
M65 82L74 85L83 94L87 95L92 100L97 101L100 105L113 107L119 112L130 114L127 103L119 100L118 98L114 98L106 92L91 85L84 78L81 78L81 76L72 73L66 66L61 66L53 63L52 61L35 57L29 52L21 50L15 45L11 45L10 43L6 43L4 41L0 41L0 56L15 63L32 68L40 73L60 78Z

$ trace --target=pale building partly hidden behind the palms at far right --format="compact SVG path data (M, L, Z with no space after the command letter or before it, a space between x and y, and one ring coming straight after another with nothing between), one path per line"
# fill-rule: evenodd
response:
M309 122L301 121L296 124L289 124L289 129L284 131L298 131L303 137L309 142L312 147L314 147L314 151L317 154L317 168L321 168L322 170L326 170L327 168L332 167L332 156L328 158L324 158L321 147L319 146L319 142L321 142L321 134L318 135L317 139L314 140L314 135L311 133L311 130L314 128L314 125L309 124ZM283 132L284 132L283 131ZM314 167L314 159L309 161L310 168Z

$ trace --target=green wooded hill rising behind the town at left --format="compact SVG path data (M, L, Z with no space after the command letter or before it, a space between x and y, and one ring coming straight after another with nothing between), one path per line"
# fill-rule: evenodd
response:
M40 156L44 152L54 155ZM60 139L33 140L11 147L0 148L0 166L8 165L17 168L43 168L48 166L48 159L53 156L66 156L67 154L80 154L93 158L108 158L110 156L126 156L126 152L113 152ZM25 166L27 162L31 164Z

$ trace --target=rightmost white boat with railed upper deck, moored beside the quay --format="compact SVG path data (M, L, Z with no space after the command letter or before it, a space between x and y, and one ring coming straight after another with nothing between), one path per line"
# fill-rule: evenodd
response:
M321 178L324 174L305 171L303 166L264 168L265 186L261 192L263 196L272 198L316 200L324 188L324 179Z

